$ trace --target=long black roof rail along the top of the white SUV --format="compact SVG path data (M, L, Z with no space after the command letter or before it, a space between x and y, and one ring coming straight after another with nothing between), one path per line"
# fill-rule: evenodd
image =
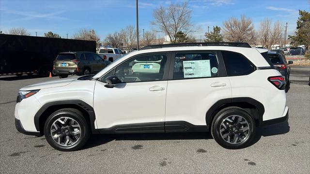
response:
M248 43L222 42L222 43L170 43L170 44L157 44L157 45L144 46L140 50L154 49L154 48L164 48L164 47L176 47L176 46L236 46L236 47L251 48L251 46Z

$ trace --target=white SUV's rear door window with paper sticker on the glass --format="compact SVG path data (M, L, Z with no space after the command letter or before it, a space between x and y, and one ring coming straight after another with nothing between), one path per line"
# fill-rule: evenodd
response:
M218 61L215 52L176 53L173 79L203 78L218 76Z

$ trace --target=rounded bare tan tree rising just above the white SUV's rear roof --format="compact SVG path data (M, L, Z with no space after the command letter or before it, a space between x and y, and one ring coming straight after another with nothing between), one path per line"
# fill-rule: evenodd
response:
M231 17L223 22L224 39L228 42L254 43L256 34L252 19L241 15L240 20Z

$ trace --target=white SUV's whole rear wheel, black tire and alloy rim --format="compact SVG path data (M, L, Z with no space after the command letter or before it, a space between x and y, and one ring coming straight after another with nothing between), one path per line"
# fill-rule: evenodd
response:
M222 147L240 149L247 147L254 138L255 123L246 110L228 107L213 119L211 133Z

